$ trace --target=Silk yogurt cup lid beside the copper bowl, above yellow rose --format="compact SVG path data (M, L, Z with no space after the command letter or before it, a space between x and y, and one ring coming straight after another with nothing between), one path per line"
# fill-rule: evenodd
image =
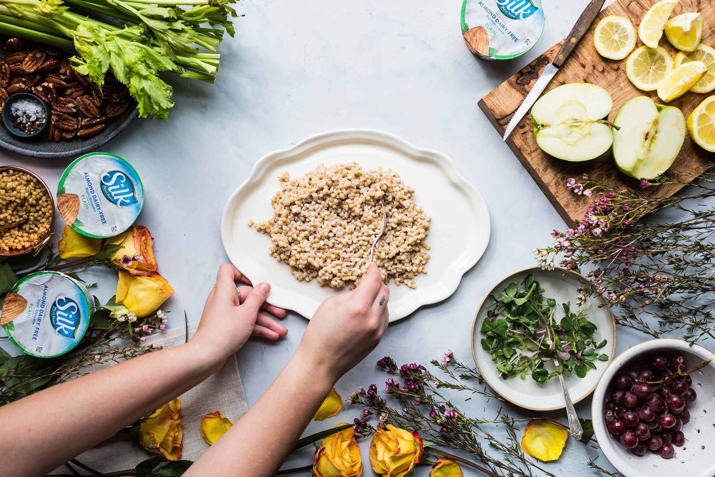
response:
M134 167L108 152L85 154L69 164L57 187L57 208L67 225L88 237L106 238L132 226L144 205L144 185Z

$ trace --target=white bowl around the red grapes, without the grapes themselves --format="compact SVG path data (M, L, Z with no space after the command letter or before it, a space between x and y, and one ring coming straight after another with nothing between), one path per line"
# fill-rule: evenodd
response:
M695 391L696 398L686 403L689 421L681 428L685 441L681 446L673 446L675 453L671 458L663 458L659 452L650 450L646 450L642 456L637 456L623 446L620 438L608 431L603 418L615 388L616 376L626 374L628 370L651 367L654 355L664 356L669 362L675 355L684 356L687 360L686 370L697 368L706 360L713 360L689 374L690 388ZM690 345L684 340L675 338L660 338L638 343L623 351L613 359L613 363L603 373L593 392L591 404L593 434L598 440L603 455L624 477L715 476L715 395L712 389L714 382L715 354L701 345ZM654 382L653 386L657 391L657 383ZM636 410L640 410L641 407L641 401L638 400ZM674 413L674 415L679 416L681 413Z

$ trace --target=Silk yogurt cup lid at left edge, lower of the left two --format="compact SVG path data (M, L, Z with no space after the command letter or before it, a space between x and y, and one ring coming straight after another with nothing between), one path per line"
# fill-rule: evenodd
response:
M63 355L84 338L92 318L89 292L60 272L36 272L8 292L0 325L14 345L37 358Z

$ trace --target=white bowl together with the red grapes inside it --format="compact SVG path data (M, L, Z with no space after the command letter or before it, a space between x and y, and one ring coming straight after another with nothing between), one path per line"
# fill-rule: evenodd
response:
M715 354L660 338L613 360L593 392L593 432L624 477L715 476Z

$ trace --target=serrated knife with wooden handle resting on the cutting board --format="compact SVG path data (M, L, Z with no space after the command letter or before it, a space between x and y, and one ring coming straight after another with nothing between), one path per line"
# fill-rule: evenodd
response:
M601 11L604 3L606 3L606 0L591 0L591 3L586 6L585 10L583 10L581 16L579 16L578 20L576 20L576 24L573 25L571 33L568 34L566 41L563 42L561 49L559 49L558 53L556 53L556 57L553 59L553 62L546 65L546 68L541 73L541 76L538 77L536 83L534 83L533 87L531 87L529 94L526 95L526 98L524 98L523 102L521 102L521 105L516 110L513 117L511 117L511 121L507 125L506 131L504 131L504 136L502 137L503 141L506 141L509 134L511 134L514 128L516 128L516 125L519 124L524 116L526 116L528 110L531 109L538 97L541 96L541 93L551 82L551 79L553 79L556 72L558 72L558 69L561 68L566 62L568 56L571 54L573 49L576 48L578 41L581 41L583 35L586 34L588 27L591 26L593 20L596 19L596 15L598 15L598 12Z

